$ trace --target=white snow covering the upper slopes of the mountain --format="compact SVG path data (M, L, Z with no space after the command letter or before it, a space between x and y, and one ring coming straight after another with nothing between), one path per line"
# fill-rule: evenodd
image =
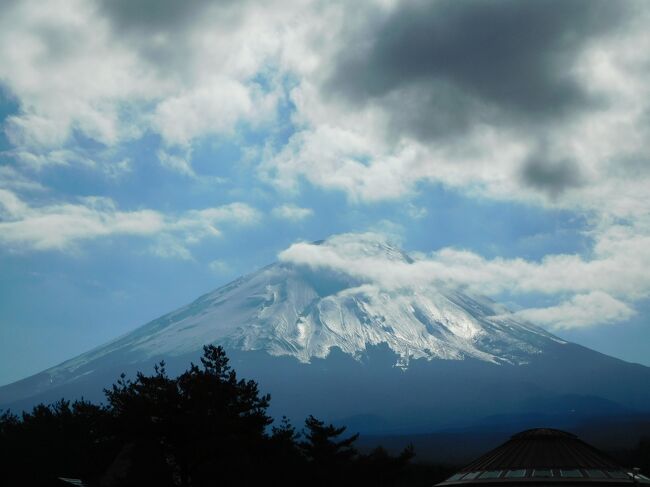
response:
M340 244L336 238L320 243L326 251ZM344 244L354 245L360 258L413 262L384 242L361 238ZM74 374L113 352L146 360L190 353L207 343L305 363L326 357L332 347L358 358L369 346L387 344L402 367L420 358L523 364L550 342L563 343L485 298L433 285L386 288L339 271L279 262L48 373Z

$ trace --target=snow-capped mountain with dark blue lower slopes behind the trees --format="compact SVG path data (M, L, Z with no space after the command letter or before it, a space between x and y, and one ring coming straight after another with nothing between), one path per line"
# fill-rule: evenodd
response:
M383 241L350 238L318 245L352 245L359 258L407 270L414 262ZM121 372L149 372L160 360L180 372L209 343L271 393L272 413L297 421L314 414L361 431L650 411L650 368L566 342L487 298L422 281L381 286L290 259L1 387L0 408L101 399Z

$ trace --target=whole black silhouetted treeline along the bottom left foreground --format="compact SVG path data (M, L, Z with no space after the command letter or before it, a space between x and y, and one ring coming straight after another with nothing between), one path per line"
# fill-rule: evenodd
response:
M221 347L176 378L164 362L152 375L124 375L106 403L61 400L0 416L3 485L58 485L58 477L113 486L432 485L447 471L411 464L310 416L297 430L273 424L270 396L238 379Z

